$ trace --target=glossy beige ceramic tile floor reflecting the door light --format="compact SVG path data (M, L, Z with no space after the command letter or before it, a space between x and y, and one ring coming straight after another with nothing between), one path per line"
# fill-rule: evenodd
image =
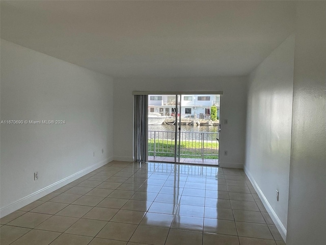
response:
M113 161L1 218L7 244L282 245L241 169Z

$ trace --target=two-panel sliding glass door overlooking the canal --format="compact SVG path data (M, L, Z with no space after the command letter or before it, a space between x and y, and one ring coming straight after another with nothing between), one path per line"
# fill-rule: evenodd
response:
M149 94L148 160L218 165L220 94Z

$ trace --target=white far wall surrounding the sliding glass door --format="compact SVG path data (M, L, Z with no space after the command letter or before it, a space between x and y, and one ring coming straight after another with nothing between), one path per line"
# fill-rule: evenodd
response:
M222 125L220 165L243 167L246 130L247 80L244 77L116 79L114 83L114 155L116 160L133 159L133 95L132 91L220 91Z

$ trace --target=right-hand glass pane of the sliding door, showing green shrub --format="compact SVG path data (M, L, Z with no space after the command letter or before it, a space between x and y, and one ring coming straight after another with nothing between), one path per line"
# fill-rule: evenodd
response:
M190 99L191 98L191 99ZM184 163L218 164L220 95L181 96L178 159Z

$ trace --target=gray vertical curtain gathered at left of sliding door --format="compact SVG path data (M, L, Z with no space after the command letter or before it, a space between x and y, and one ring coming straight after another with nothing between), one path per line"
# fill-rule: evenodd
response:
M147 161L148 95L134 95L134 160Z

